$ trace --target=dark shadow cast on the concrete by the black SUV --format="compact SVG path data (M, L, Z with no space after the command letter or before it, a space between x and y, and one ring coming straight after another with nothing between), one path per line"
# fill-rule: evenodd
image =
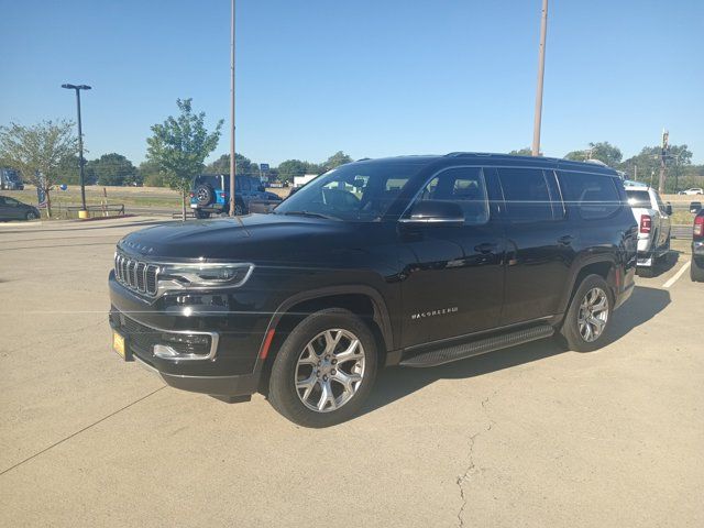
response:
M626 337L647 323L670 304L664 289L636 286L630 299L614 315L608 330L608 343ZM498 350L484 355L448 363L431 369L389 367L380 372L376 386L362 414L374 411L402 399L439 380L465 380L517 365L532 363L566 351L556 338Z

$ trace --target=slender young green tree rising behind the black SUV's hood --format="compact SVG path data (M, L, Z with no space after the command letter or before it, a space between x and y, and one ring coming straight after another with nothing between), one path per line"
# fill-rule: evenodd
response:
M193 99L177 99L179 114L169 116L166 121L152 127L152 138L146 140L147 161L153 162L164 173L172 189L182 196L182 213L186 220L186 195L191 179L204 168L204 162L220 141L223 120L208 132L206 113L194 113Z

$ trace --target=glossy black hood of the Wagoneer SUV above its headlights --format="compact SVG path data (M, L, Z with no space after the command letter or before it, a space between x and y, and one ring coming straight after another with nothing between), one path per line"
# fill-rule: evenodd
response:
M337 220L250 215L169 222L124 237L118 246L150 260L234 260L300 262L315 254L361 245L363 237Z

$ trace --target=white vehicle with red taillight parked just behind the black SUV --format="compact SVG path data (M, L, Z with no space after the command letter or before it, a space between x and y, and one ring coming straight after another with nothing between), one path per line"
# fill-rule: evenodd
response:
M672 206L651 187L627 184L626 196L639 226L638 272L649 275L670 254Z

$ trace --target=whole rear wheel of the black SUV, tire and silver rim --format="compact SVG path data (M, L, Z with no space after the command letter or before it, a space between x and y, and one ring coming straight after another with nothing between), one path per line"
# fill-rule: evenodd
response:
M591 352L606 342L612 295L606 280L587 275L572 297L560 333L570 350Z

